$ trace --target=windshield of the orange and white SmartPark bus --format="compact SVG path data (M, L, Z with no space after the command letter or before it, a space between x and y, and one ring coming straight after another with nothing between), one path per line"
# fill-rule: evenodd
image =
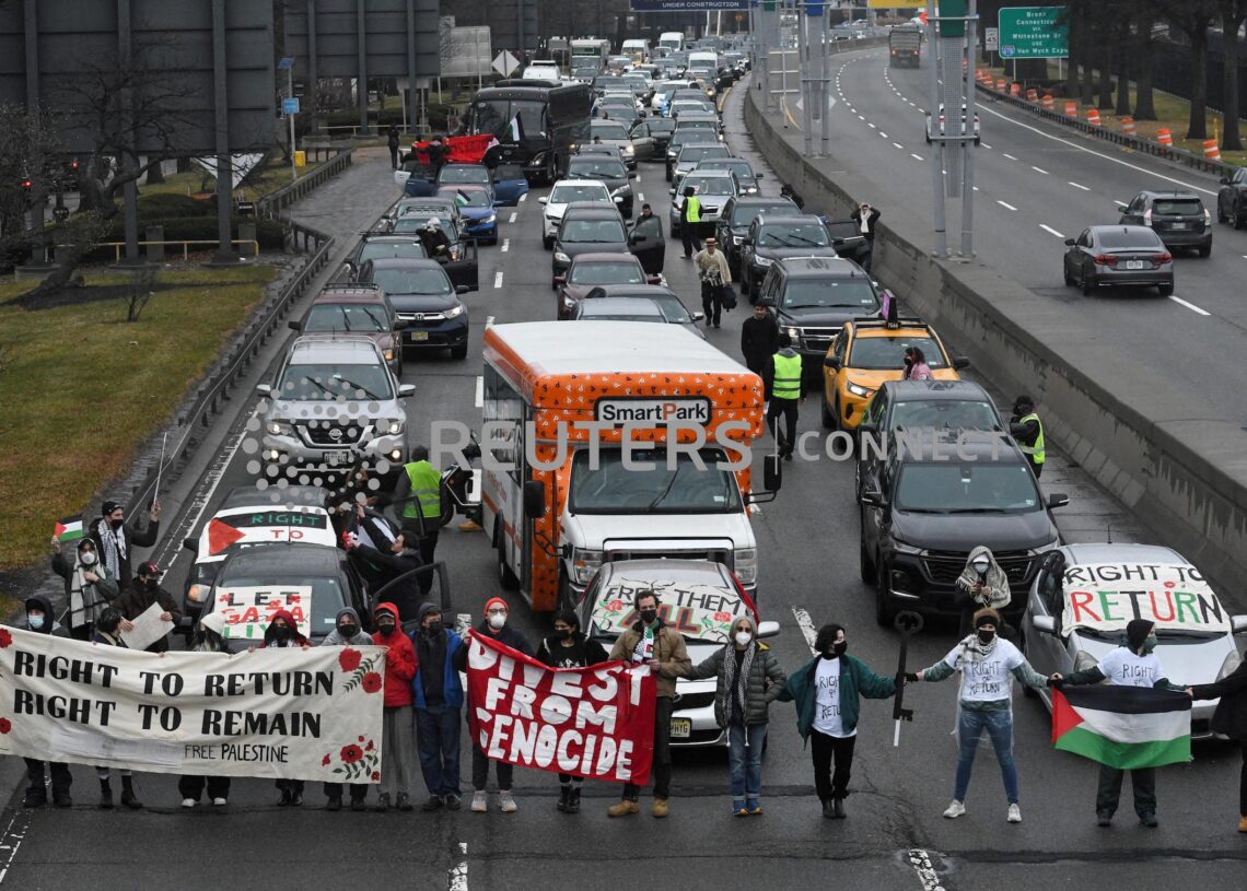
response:
M700 452L705 470L692 456L676 455L676 469L667 470L665 449L632 449L630 467L622 452L602 449L596 469L589 451L576 452L571 462L572 513L734 513L741 495L718 450ZM646 470L645 467L648 467Z

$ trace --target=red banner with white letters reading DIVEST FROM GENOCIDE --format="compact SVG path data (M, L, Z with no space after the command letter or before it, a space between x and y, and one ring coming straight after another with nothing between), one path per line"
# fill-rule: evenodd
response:
M647 667L546 668L478 632L465 646L468 724L489 758L595 780L648 781L657 685Z

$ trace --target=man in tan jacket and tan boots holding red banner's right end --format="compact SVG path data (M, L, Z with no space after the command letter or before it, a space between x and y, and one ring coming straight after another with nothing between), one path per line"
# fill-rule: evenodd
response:
M619 636L611 649L611 660L624 659L633 665L648 665L657 675L657 702L653 713L653 808L651 812L665 817L671 812L671 713L675 708L676 678L692 665L685 638L658 617L658 596L638 591L632 599L636 623ZM610 816L637 814L641 790L632 783L624 786L619 804L607 808Z

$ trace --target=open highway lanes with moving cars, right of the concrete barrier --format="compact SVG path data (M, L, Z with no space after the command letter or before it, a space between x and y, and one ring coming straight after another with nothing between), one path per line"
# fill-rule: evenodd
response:
M854 55L834 69L832 110L837 167L863 179L855 193L888 214L930 218L930 153L925 143L928 71L887 67L880 51ZM981 93L979 96L981 100ZM1190 394L1185 417L1247 420L1236 356L1247 346L1247 233L1215 224L1212 255L1176 258L1178 299L1155 289L1106 290L1082 297L1061 282L1062 239L1094 223L1116 222L1116 208L1143 188L1192 188L1215 208L1216 181L1122 153L993 102L979 110L983 146L975 155L975 252L1036 299L1069 314L1072 326L1104 333L1132 365L1162 368ZM959 244L959 202L948 208L949 243ZM1181 420L1181 419L1166 419Z

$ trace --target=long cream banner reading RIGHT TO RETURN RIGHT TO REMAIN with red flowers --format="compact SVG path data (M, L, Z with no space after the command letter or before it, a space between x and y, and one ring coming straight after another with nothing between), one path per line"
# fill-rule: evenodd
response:
M382 647L143 653L0 628L0 754L378 783Z

